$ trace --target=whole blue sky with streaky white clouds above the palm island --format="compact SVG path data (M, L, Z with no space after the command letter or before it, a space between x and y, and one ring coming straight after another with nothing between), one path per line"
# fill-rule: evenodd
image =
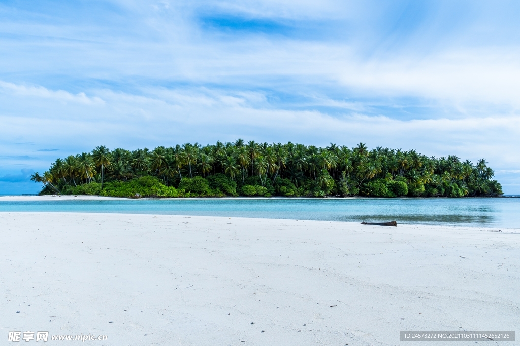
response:
M237 138L486 158L520 193L520 3L0 1L0 194Z

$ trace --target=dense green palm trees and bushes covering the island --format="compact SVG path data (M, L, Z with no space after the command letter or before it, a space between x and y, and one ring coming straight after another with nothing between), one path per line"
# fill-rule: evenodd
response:
M326 148L243 140L128 151L105 146L56 159L41 194L119 197L204 196L498 196L500 184L481 159L426 157L415 150Z

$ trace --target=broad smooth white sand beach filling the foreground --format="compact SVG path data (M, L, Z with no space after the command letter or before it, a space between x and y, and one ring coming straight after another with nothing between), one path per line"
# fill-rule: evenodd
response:
M397 345L399 330L520 325L520 231L87 213L0 224L0 339Z

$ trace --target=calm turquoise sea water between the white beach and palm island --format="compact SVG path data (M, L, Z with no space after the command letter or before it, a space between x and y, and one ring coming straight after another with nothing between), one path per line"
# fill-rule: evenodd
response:
M2 201L0 212L137 213L520 228L520 198Z

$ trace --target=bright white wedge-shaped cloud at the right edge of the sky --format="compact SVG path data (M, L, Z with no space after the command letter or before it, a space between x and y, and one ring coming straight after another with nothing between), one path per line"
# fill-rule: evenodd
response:
M520 106L520 50L516 47L444 51L423 58L410 54L334 66L341 71L342 84L378 94Z

